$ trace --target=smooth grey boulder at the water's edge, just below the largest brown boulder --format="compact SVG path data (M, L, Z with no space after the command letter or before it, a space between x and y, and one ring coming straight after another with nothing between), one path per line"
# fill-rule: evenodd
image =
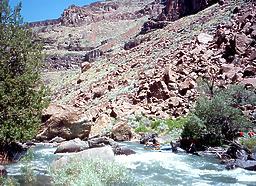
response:
M67 152L80 152L85 149L89 149L89 143L87 141L82 141L79 138L62 142L54 152L56 153L67 153Z

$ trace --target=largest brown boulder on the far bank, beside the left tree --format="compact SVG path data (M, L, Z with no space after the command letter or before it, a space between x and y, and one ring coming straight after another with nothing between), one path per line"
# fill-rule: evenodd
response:
M51 140L56 136L70 140L89 137L91 125L78 108L67 105L50 105L44 112L38 140Z

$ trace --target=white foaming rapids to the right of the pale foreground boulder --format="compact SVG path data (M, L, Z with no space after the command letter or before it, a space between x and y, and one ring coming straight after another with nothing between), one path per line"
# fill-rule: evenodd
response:
M117 156L116 162L130 169L145 185L256 185L256 172L226 170L214 157L143 151L139 145L128 146L138 153Z

